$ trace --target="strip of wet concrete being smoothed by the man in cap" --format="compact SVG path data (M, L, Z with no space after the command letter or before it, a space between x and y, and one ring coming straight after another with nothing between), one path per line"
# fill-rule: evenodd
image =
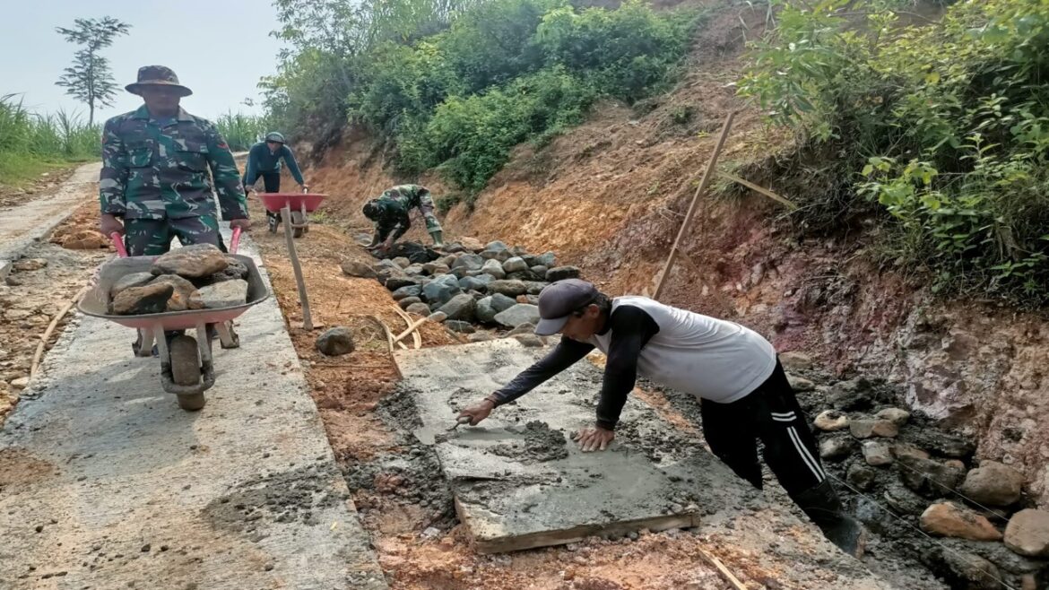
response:
M593 423L602 379L590 362L499 407L476 427L447 430L457 409L509 382L541 354L506 339L397 355L402 386L419 410L415 434L435 445L479 551L698 527L711 543L727 542L745 553L764 572L756 576L787 587L889 587L799 512L770 502L694 434L676 428L637 397L627 401L611 449L580 451L569 436Z

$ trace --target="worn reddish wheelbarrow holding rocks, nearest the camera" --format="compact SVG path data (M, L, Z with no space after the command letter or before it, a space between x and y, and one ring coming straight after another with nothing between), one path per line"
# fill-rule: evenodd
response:
M233 319L270 296L270 290L266 289L255 261L249 256L236 253L240 241L240 228L233 231L230 250L237 260L248 267L245 303L214 310L188 310L134 316L110 314L109 291L113 283L125 275L149 272L156 256L128 257L120 240L120 234L114 233L112 237L120 257L104 264L99 269L92 285L78 301L77 309L84 315L100 317L138 330L138 342L135 345L137 356L151 356L155 341L160 357L160 386L165 392L178 397L178 406L183 409L200 409L206 401L204 393L215 384L215 367L211 354L212 331L217 332L223 349L239 347L240 338L233 331ZM165 332L191 328L196 331L196 338L183 334L172 338L169 343L165 337Z

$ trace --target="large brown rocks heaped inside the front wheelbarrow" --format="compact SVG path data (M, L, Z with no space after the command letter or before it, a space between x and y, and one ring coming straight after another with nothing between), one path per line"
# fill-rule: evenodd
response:
M150 272L131 273L109 290L114 315L158 314L242 305L248 267L210 244L159 256Z

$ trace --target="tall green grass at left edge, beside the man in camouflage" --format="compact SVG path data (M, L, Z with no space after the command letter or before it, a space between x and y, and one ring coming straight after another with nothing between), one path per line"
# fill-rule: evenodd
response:
M0 185L18 186L41 172L99 157L102 129L60 110L38 114L16 94L0 96Z

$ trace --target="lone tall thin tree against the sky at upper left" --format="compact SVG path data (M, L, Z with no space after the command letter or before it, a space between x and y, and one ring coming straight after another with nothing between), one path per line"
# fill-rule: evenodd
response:
M110 17L102 19L77 19L73 28L56 27L59 35L70 43L84 47L73 54L72 66L55 84L66 89L66 93L87 104L88 125L94 124L94 107L112 106L116 96L116 83L109 70L109 60L99 51L113 44L117 35L127 35L131 25Z

